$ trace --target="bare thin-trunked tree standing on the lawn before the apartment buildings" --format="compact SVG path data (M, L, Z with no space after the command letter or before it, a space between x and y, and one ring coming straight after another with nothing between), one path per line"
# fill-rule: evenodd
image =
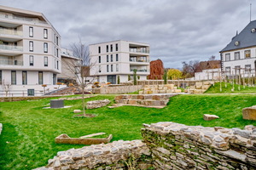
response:
M90 77L90 69L95 65L90 61L89 48L85 45L81 38L79 42L74 42L71 45L74 59L64 59L63 62L67 65L69 71L73 73L78 81L79 88L82 91L83 98L83 113L85 116L84 90L94 81L94 77Z

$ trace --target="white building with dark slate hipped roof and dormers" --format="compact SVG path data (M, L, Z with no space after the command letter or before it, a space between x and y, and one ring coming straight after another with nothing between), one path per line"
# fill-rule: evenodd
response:
M252 77L256 74L256 20L251 21L220 51L225 76Z

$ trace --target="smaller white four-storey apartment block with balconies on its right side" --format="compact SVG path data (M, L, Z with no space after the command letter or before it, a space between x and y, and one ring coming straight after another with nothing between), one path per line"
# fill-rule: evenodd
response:
M91 44L90 76L97 77L97 82L116 84L127 82L128 75L133 78L133 70L137 70L140 80L146 80L149 71L149 45L147 43L118 40Z

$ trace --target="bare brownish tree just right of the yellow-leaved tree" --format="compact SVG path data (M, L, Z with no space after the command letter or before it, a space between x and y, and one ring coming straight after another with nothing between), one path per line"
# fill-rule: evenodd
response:
M199 60L190 60L189 63L186 61L182 62L183 64L183 77L195 77L196 71L201 71Z

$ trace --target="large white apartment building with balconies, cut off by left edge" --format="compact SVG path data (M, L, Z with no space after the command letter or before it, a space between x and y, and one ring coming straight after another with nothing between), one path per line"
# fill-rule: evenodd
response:
M61 36L44 14L0 6L0 96L8 84L8 96L43 95L59 73Z

